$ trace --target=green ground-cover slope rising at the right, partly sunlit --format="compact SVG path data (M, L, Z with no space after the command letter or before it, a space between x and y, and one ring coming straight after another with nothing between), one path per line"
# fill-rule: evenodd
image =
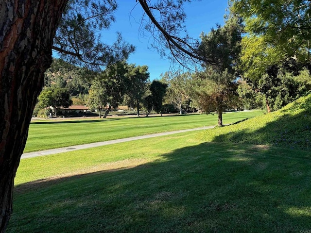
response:
M311 150L311 94L284 108L199 134L205 141L264 144Z

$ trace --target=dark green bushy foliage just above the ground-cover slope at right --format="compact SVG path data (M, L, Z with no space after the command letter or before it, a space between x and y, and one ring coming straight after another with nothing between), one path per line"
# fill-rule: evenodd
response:
M310 71L292 59L287 59L282 64L273 65L258 76L243 74L242 85L238 91L241 98L263 100L267 111L275 111L286 104L305 95L310 86ZM257 101L259 103L259 101ZM265 108L264 107L264 108Z

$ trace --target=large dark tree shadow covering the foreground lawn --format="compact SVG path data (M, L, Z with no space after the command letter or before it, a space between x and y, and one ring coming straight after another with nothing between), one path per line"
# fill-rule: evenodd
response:
M7 232L311 230L311 154L222 143L18 185Z

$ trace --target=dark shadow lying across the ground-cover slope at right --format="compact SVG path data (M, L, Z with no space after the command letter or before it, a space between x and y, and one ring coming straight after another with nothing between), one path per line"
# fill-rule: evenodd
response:
M280 112L279 115L271 115L271 121L267 123L260 121L269 117L267 115L256 120L241 122L238 126L239 130L230 130L231 126L225 126L226 133L222 133L220 129L219 135L212 141L268 144L290 149L311 150L311 111L306 110L299 114L290 114L290 112L291 109L285 113ZM253 131L252 128L256 125L262 127Z

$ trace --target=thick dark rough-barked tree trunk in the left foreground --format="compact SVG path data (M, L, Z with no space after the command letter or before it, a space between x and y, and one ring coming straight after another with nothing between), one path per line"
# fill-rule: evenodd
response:
M6 0L0 4L0 233L12 213L14 177L66 3Z

